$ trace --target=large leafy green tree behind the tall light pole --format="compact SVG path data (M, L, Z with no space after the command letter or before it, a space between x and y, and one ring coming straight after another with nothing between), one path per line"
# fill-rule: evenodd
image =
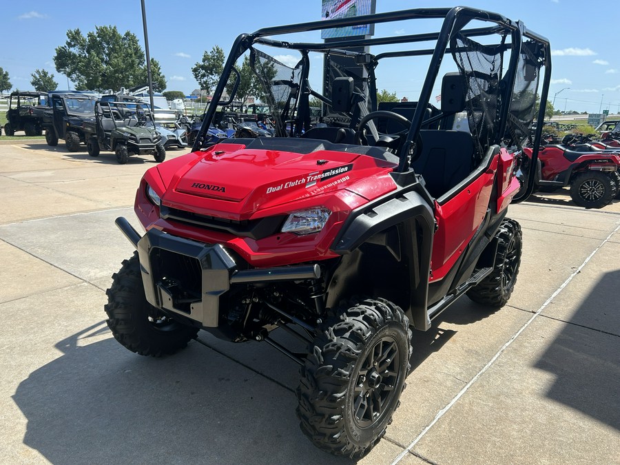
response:
M84 37L79 29L67 31L65 45L56 48L56 71L75 83L76 89L118 90L146 85L145 53L132 32L121 35L116 26L95 26ZM151 59L153 88L166 88L159 63Z

